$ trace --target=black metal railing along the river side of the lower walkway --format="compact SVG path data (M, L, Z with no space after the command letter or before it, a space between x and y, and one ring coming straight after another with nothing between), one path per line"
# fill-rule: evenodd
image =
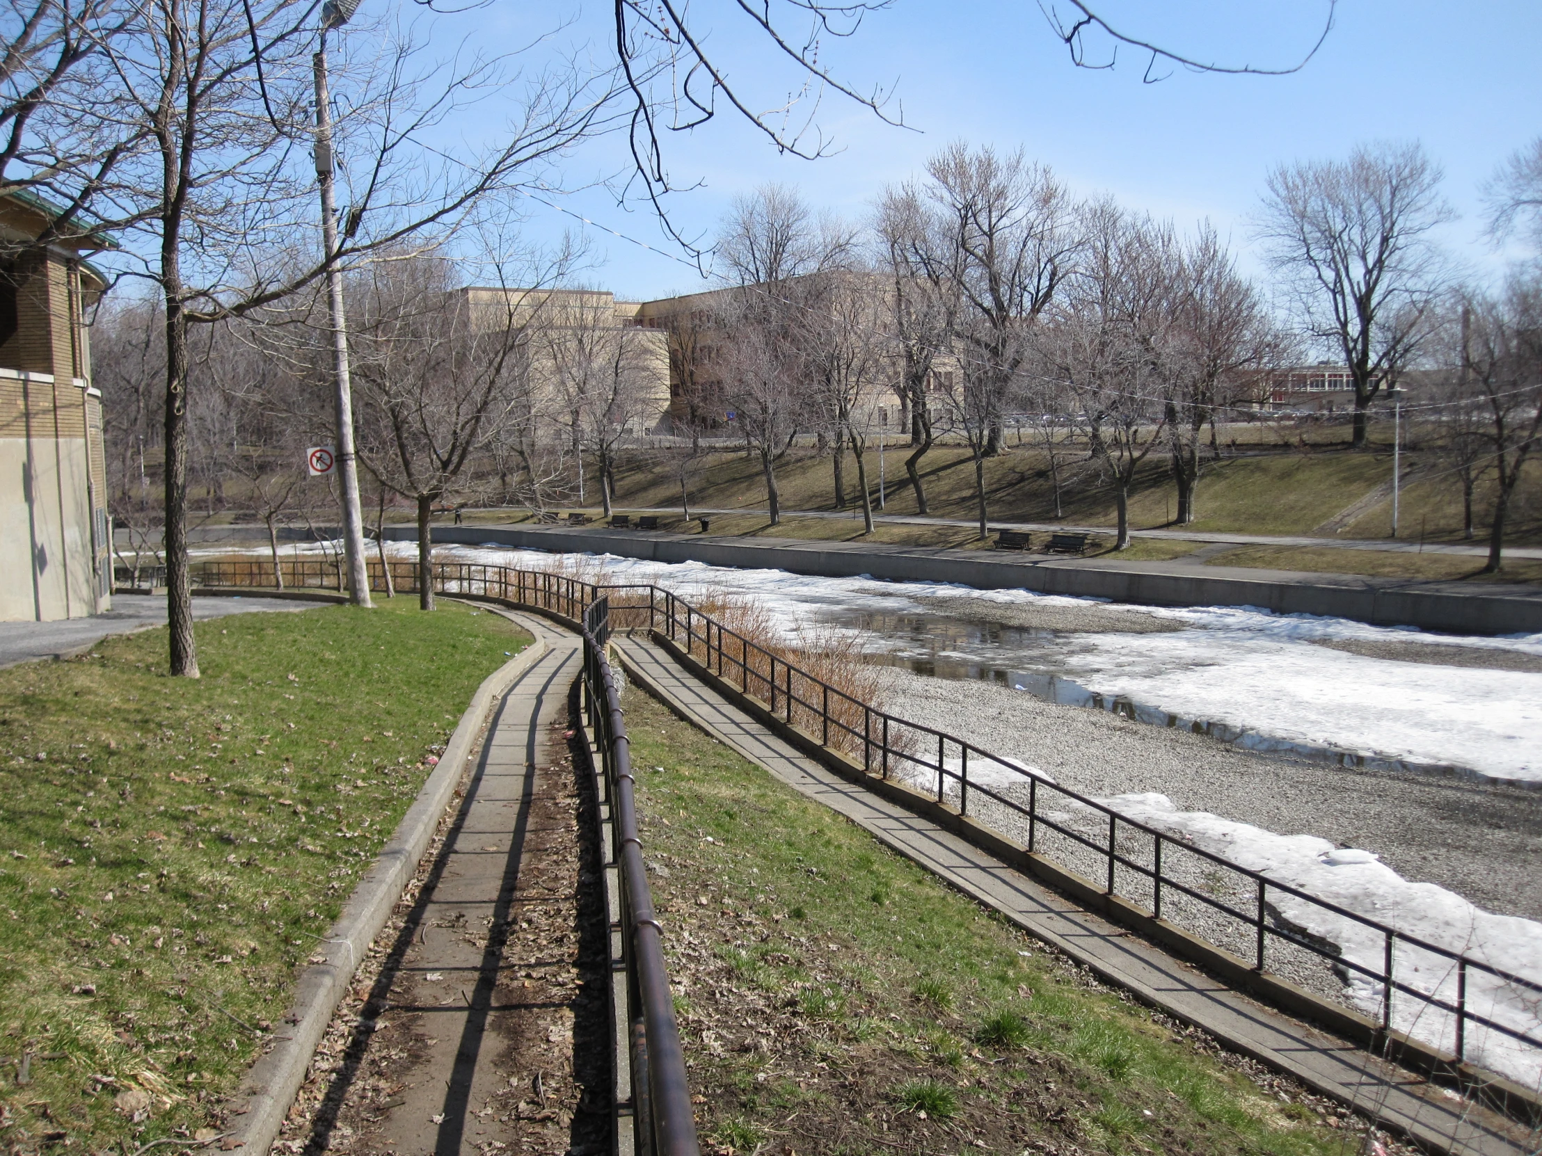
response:
M264 569L248 563L205 567L214 567L205 570L211 576L205 584L248 584L242 580ZM398 590L416 589L416 566L393 563L392 575ZM372 583L384 589L378 564ZM1428 1040L1429 1025L1419 1028L1419 1020L1437 1014L1445 1022L1434 1025L1433 1042L1457 1062L1470 1062L1474 1028L1497 1033L1513 1048L1542 1053L1536 1016L1517 1025L1493 1013L1500 997L1516 1008L1542 1006L1542 983L1206 851L964 738L877 711L669 590L456 563L435 564L433 583L443 593L498 598L575 623L603 600L606 632L658 632L788 726L853 758L864 772L924 789L936 803L999 831L1030 854L1098 880L1104 896L1244 962L1251 959L1255 973L1300 983L1303 968L1326 966L1351 986L1362 985L1360 1002L1375 999L1379 1005L1377 1045L1399 1023ZM623 786L629 792L631 780ZM637 860L640 872L640 854Z

